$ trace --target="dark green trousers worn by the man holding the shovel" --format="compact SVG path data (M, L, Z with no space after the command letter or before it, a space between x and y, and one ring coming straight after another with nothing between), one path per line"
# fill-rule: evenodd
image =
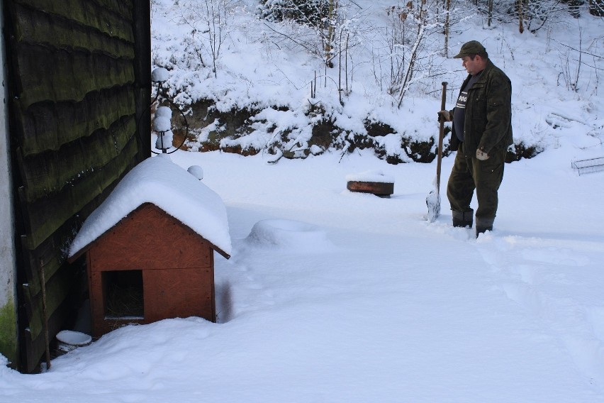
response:
M453 211L471 211L470 202L476 189L478 209L476 226L483 223L492 227L497 213L497 191L503 180L506 148L489 154L488 160L478 160L476 155L464 155L464 143L459 144L453 170L447 184L447 197Z

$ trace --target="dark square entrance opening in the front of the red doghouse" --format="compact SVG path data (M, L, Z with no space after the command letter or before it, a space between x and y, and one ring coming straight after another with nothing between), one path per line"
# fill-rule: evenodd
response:
M105 319L144 319L142 270L103 272Z

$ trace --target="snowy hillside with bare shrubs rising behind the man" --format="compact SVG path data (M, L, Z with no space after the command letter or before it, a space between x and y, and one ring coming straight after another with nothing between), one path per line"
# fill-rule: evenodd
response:
M340 58L336 57L335 67L330 69L300 45L312 42L312 32L259 20L255 0L226 1L233 5L233 11L225 17L227 26L220 31L223 40L213 72L208 32L214 31L204 25L203 7L191 7L191 1L154 3L153 63L169 68L167 84L185 108L199 99L211 99L220 111L259 111L252 117L250 133L223 139L223 147L262 149L282 133L289 133L286 137L290 143L285 148L304 146L311 138L313 122L322 117L335 121L342 131L363 135L367 133L367 120L391 126L395 133L375 141L387 155L410 161L401 138L426 141L437 136L430 123L439 108L441 82L449 82L450 109L466 76L460 60L442 56L444 38L431 28L418 60L422 69L415 72L415 84L397 108L398 92L387 91L390 72L396 70L390 57L396 18L386 10L395 5L404 9L406 2L388 0L340 2L346 11L346 32L351 35L349 60L347 65L342 60L340 68ZM509 18L504 16L504 20ZM581 18L560 11L549 16L547 25L535 34L520 34L513 22L494 20L488 27L483 15L460 3L454 4L451 21L449 57L467 40L480 40L493 62L512 79L517 145L537 152L555 148L566 140L561 138L567 131L586 135L573 138L576 145L600 145L601 139L595 135L604 125L601 89L598 92L598 66L604 48L602 18L590 16L586 10ZM311 97L315 76L317 86ZM578 92L569 90L575 83ZM338 85L349 90L342 92L342 105ZM309 116L311 104L320 106L319 116ZM209 128L216 130L216 125L219 128L223 123L215 122ZM196 133L201 140L207 140L208 134L208 130ZM344 137L340 141L345 142ZM191 147L196 144L192 141Z

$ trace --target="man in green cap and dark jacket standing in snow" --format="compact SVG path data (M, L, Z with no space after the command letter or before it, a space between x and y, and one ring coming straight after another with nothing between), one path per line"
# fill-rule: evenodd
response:
M453 226L472 226L470 202L476 189L476 236L493 229L498 189L512 138L512 83L488 59L486 49L476 40L464 43L455 58L462 59L468 72L451 111L439 118L453 122L450 149L457 150L447 197Z

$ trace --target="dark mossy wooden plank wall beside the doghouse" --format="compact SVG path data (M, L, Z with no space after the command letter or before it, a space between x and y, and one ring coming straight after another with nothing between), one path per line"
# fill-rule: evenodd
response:
M150 10L141 0L5 0L4 18L23 284L20 369L32 372L45 353L40 266L52 339L82 275L66 262L69 243L150 155Z

